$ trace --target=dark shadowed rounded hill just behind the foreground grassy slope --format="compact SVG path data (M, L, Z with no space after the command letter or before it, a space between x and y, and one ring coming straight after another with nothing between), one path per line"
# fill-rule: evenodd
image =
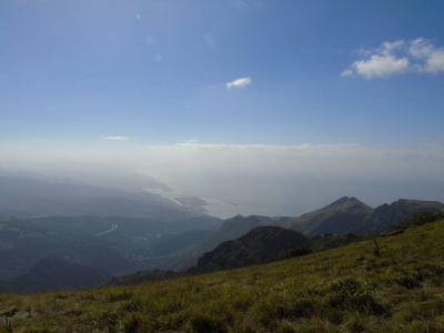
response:
M198 263L182 271L150 270L114 276L107 285L130 285L163 281L173 278L199 275L279 261L284 258L306 255L345 246L369 239L355 233L307 236L279 226L258 226L243 236L219 244L203 253Z

